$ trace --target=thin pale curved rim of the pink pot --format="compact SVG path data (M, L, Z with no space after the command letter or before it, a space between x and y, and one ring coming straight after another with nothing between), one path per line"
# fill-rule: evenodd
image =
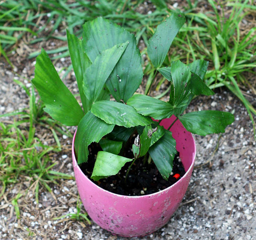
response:
M76 129L76 131L77 131L77 129ZM193 147L194 147L193 159L192 159L192 162L191 162L191 164L190 164L190 167L188 168L188 170L186 171L186 173L185 173L177 182L175 182L174 184L172 184L171 186L169 186L169 187L167 187L167 188L165 188L165 189L163 189L163 190L160 190L160 191L158 191L158 192L154 192L154 193L152 193L152 194L142 195L142 196L127 196L127 195L115 194L115 193L113 193L113 192L110 192L110 191L108 191L108 190L105 190L105 189L99 187L97 184L95 184L94 182L92 182L91 179L90 179L89 177L87 177L87 176L83 173L83 171L81 170L81 168L79 167L79 165L78 165L78 163L77 163L77 161L76 161L76 156L75 156L75 137L76 137L76 131L75 131L75 133L74 133L73 140L72 140L72 160L73 160L73 163L74 163L74 168L78 168L78 171L80 171L80 173L82 173L83 176L84 176L85 178L87 178L87 180L90 181L93 185L95 185L99 190L103 190L104 192L107 192L107 193L109 193L110 195L113 195L113 196L116 196L116 197L122 197L122 198L150 198L150 197L154 197L155 195L161 195L161 194L163 194L164 192L166 192L166 191L168 191L169 189L171 189L172 187L174 187L175 185L179 184L179 182L180 182L181 180L183 180L183 179L186 177L186 175L189 174L189 172L191 171L191 168L193 168L193 166L194 166L194 161L195 161L195 158L196 158L196 144L195 144L195 141L194 141L194 137L193 137L193 135L191 134L191 137L192 137L193 142L194 142L194 144L193 144Z

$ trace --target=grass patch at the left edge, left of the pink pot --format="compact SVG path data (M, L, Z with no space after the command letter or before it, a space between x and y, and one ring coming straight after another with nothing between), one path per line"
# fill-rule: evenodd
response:
M55 121L46 115L43 115L42 104L35 100L34 88L26 88L23 83L16 82L24 88L29 97L29 109L21 112L13 112L0 115L1 117L14 116L18 120L3 120L0 122L0 197L4 194L8 184L15 184L23 176L29 179L33 191L35 192L36 201L38 202L39 185L52 192L50 183L57 184L57 179L72 179L73 177L52 170L57 162L52 163L49 154L61 150L60 141L56 131L62 134L70 133L63 131ZM46 128L53 134L55 146L48 146L42 143L42 140L36 137L36 130L40 131ZM15 206L17 218L19 217L17 195L12 201ZM17 205L17 206L16 206Z

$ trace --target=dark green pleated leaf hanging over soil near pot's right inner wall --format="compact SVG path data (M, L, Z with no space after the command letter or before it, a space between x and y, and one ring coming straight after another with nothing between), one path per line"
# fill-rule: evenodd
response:
M167 130L165 130L164 136L149 148L149 155L165 180L168 180L172 172L173 158L176 153L176 141L172 137L172 133Z

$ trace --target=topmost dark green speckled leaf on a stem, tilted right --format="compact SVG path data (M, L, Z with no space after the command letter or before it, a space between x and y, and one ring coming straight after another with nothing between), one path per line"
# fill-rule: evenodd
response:
M172 13L172 16L157 26L156 32L149 39L147 53L157 69L164 62L172 41L184 22L185 16L183 13Z

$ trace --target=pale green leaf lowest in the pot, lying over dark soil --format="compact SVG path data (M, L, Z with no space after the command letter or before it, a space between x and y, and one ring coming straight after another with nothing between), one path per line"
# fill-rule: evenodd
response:
M99 151L92 171L91 178L98 181L101 178L117 174L127 162L132 159Z

